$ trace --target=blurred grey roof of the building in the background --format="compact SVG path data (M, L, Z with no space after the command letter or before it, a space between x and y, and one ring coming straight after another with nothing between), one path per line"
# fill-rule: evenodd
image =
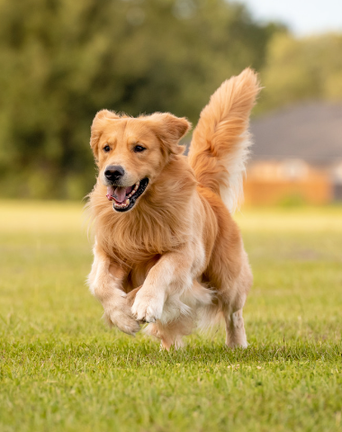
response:
M342 104L307 103L251 122L251 158L302 158L326 163L342 158Z

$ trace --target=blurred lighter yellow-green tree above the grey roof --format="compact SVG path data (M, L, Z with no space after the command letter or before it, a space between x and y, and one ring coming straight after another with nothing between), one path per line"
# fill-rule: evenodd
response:
M278 32L270 41L257 111L303 100L342 101L342 34L295 39Z

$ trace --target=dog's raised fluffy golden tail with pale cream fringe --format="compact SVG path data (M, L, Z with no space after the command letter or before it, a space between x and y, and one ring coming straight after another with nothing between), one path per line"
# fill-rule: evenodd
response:
M260 86L250 68L211 95L193 130L189 163L196 179L218 193L230 212L243 199L243 175L251 145L249 113Z

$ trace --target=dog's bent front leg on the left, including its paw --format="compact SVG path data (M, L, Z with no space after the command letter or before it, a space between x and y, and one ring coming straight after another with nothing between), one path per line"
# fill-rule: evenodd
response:
M90 291L102 303L107 322L133 335L139 331L139 324L133 318L126 293L122 291L124 276L121 267L95 244L94 263L88 276Z

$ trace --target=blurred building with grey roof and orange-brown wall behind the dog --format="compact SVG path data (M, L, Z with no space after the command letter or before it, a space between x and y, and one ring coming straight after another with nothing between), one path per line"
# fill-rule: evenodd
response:
M310 103L251 123L251 204L342 201L342 104Z

